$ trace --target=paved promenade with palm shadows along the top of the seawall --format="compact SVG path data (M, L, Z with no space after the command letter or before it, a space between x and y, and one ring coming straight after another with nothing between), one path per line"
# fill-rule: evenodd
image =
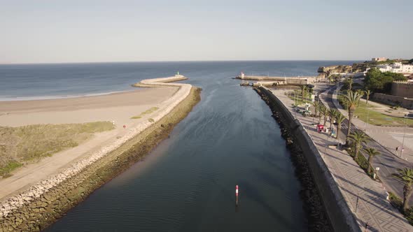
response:
M302 123L316 145L325 164L339 186L346 203L357 219L361 231L369 224L368 231L413 231L407 220L386 201L386 191L379 182L370 179L355 161L344 151L328 145L337 144L335 138L318 133L312 117L302 117L293 111L293 100L284 90L272 90L283 104Z

